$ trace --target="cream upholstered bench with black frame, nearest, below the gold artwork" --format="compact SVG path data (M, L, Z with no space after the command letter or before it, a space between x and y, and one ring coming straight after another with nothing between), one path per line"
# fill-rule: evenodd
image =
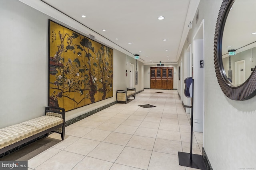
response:
M0 129L0 154L49 132L65 135L65 109L46 107L45 115Z

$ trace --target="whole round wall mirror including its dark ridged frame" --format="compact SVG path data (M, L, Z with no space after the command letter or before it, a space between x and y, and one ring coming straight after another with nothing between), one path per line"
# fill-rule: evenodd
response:
M256 94L256 0L223 0L216 23L214 63L228 98L246 100Z

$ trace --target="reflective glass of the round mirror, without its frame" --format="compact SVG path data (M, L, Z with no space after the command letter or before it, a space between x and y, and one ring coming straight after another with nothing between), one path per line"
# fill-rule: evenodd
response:
M222 37L222 63L231 86L243 84L256 66L256 0L235 0Z

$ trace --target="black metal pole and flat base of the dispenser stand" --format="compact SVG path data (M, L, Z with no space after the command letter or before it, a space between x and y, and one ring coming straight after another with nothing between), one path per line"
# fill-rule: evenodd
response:
M179 165L187 166L190 168L196 168L200 170L206 170L203 156L200 154L192 154L193 144L193 99L194 99L194 79L192 79L192 106L188 106L191 109L191 131L190 131L190 153L178 152Z

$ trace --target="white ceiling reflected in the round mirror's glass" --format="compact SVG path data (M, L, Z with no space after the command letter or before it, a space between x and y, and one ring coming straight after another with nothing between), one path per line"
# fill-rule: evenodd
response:
M236 0L226 19L222 38L222 57L228 50L236 53L256 46L256 0Z

